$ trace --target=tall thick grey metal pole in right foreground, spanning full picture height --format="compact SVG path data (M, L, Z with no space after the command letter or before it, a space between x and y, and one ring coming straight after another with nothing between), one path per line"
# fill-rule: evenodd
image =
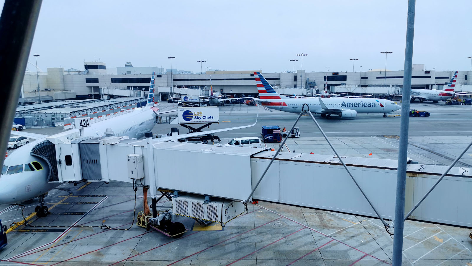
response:
M406 156L408 151L408 127L410 92L412 86L413 33L415 0L408 0L406 23L405 66L403 74L402 113L400 120L400 145L396 172L395 234L393 239L393 266L402 265L403 219L405 217Z

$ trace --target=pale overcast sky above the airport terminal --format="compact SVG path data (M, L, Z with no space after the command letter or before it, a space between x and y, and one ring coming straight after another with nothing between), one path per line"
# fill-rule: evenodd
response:
M1 4L3 6L3 4ZM403 70L407 0L124 1L43 0L29 62L84 69L158 66L220 70ZM468 71L472 1L417 0L413 63L427 70ZM295 70L300 69L300 61ZM32 70L33 66L28 68Z

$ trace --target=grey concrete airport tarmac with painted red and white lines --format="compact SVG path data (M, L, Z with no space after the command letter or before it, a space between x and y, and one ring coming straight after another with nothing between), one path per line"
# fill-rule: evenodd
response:
M412 107L431 113L428 118L410 119L408 152L412 160L449 165L472 141L471 106L413 103ZM164 103L160 108L177 108L177 104ZM381 115L361 114L352 119L335 116L331 120L315 117L340 154L396 159L400 117ZM218 133L221 143L234 137L260 136L261 125L275 124L288 129L296 118L296 114L269 112L261 106L221 106L220 123L212 124L210 129L253 124L256 116L258 123L253 127ZM157 124L153 133L165 134L174 126ZM288 150L332 153L311 117L302 117L297 126L302 137L289 138ZM185 128L178 127L180 133L186 133ZM59 130L56 127L26 129L26 132L50 134ZM277 144L270 145L277 147ZM472 149L458 166L470 167L471 154ZM248 212L224 228L215 223L202 227L191 218L179 217L177 221L184 223L189 231L179 239L172 239L135 225L135 194L129 183L64 184L51 190L46 203L51 214L34 218L31 225L97 227L20 227L8 234L8 245L0 251L0 265L372 266L392 263L393 239L373 217L259 201L248 204ZM166 201L159 205L171 206ZM33 200L25 203L25 216L35 206ZM142 192L138 189L135 214L142 209ZM22 219L18 206L0 206L0 210L4 225ZM133 226L126 231L102 230L99 228L102 224L118 229ZM472 266L470 231L428 222L405 222L403 265Z

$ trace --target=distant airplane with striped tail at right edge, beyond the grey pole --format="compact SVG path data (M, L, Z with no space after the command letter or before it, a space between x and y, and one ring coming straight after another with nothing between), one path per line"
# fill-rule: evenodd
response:
M447 88L445 90L436 90L436 89L412 89L411 90L411 99L410 101L413 102L415 99L419 99L420 103L423 101L433 101L433 103L437 103L438 101L447 100L454 96L461 96L461 95L471 95L470 91L468 92L454 92L455 82L457 80L457 72L455 71L454 75L452 75L451 80L447 84ZM402 96L395 95L395 96Z

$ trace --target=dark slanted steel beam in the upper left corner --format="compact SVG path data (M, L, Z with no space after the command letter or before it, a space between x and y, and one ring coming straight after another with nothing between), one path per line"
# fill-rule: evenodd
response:
M7 151L11 125L15 117L21 84L25 77L26 64L33 43L41 0L5 0L0 17L0 152ZM4 153L2 153L4 154ZM3 165L5 156L0 157Z

